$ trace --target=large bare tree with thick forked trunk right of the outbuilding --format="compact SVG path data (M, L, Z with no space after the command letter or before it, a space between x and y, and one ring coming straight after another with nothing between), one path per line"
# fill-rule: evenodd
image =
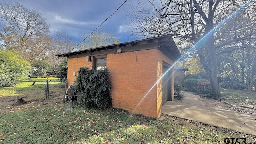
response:
M253 11L254 3L244 4L240 0L148 0L146 4L131 4L132 12L128 14L133 29L138 29L137 32L144 36L172 34L194 45L210 80L212 97L218 99L221 95L217 81L216 49L220 48L220 44L216 45L214 28L220 23L225 25L223 20L237 9L241 13ZM227 41L225 45L232 42Z

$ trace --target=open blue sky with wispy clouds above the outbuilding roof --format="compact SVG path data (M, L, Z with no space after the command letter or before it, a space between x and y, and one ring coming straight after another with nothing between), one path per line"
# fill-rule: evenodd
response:
M81 32L92 32L125 0L6 0L12 3L16 1L42 12L50 24L52 35L54 31L64 31L74 40L80 40ZM129 9L130 2L138 1L128 0L100 27L114 31L120 42L138 39L131 36L128 26L130 21L125 11Z

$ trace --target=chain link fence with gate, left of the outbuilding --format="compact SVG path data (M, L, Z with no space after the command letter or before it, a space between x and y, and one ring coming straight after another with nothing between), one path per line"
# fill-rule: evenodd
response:
M0 106L8 106L23 98L26 102L46 98L63 98L67 82L60 80L0 81Z

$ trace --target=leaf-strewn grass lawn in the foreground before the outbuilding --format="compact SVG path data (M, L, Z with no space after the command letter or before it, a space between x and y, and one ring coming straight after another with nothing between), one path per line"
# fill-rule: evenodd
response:
M213 144L256 136L162 115L159 120L109 108L95 110L44 100L0 108L0 143Z

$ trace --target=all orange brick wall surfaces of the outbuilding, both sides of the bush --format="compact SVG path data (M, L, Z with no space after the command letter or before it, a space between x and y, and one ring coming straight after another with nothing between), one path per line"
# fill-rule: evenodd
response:
M108 54L112 106L134 114L159 118L162 114L162 80L156 86L154 84L162 76L163 60L173 64L157 49ZM87 62L85 56L68 58L69 85L78 75L76 73L73 76L73 72L84 66L92 68L92 62Z

